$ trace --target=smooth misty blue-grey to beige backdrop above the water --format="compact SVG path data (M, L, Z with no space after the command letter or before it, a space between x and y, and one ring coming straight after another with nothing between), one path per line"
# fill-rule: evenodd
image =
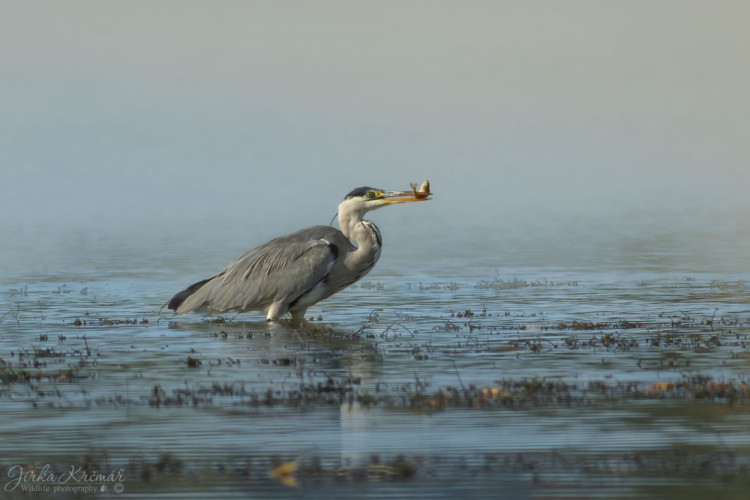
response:
M748 19L742 0L2 0L0 245L169 228L244 248L424 178L434 201L374 215L384 232L657 214L736 236Z

